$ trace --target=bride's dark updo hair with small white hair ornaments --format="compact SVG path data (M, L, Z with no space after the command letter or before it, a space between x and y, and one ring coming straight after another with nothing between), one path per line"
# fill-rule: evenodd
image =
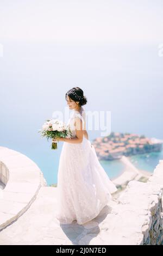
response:
M79 87L73 87L72 89L68 90L66 96L69 96L74 101L78 101L79 106L83 106L87 102L86 97L83 95L83 90Z

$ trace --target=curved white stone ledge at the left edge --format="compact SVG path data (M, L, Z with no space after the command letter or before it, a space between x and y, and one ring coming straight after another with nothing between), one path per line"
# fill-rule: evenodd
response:
M26 155L0 147L0 231L20 217L46 186L39 167Z

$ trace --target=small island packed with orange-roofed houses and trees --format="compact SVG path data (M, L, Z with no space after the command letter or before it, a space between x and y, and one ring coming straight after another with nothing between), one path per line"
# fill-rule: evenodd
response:
M111 132L108 136L92 141L98 160L115 160L122 156L158 152L162 150L162 143L161 139L121 132Z

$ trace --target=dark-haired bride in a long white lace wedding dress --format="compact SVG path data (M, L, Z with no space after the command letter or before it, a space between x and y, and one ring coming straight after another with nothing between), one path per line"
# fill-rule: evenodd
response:
M87 102L83 90L79 87L68 90L66 101L73 109L67 123L72 138L52 140L64 141L58 168L57 219L61 224L70 224L74 220L84 224L98 216L117 188L99 163L89 141L82 107Z

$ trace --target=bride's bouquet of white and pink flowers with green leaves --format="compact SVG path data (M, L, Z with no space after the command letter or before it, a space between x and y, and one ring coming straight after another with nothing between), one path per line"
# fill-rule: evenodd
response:
M57 138L68 138L70 139L72 136L70 126L64 124L62 121L58 119L50 119L46 120L46 122L42 125L41 132L42 137L46 137L47 140L57 139ZM57 149L57 142L52 142L52 149Z

